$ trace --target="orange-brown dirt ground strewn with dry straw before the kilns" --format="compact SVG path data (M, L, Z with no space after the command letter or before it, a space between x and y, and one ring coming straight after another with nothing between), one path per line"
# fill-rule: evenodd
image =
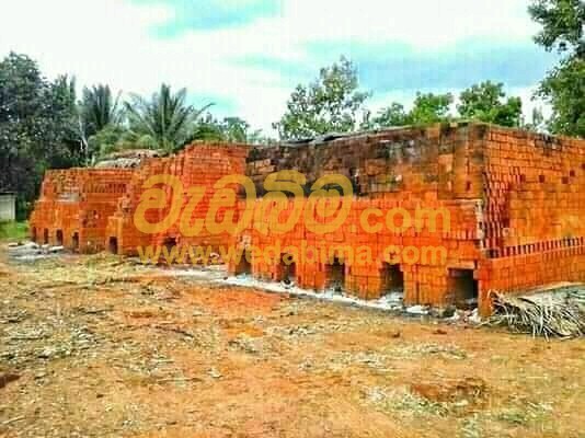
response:
M585 341L0 250L0 437L585 437Z

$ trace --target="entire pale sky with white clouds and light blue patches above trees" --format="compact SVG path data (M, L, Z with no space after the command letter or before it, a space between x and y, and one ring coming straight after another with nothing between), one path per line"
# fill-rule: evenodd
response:
M532 43L528 0L1 0L0 56L45 74L151 94L186 87L196 106L269 130L297 83L341 55L372 108L417 90L505 82L524 97L555 61Z

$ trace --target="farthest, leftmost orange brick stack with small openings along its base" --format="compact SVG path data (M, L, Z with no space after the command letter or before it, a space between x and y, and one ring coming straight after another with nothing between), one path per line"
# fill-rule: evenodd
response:
M131 175L124 169L48 171L31 216L33 239L83 253L103 250L107 218Z

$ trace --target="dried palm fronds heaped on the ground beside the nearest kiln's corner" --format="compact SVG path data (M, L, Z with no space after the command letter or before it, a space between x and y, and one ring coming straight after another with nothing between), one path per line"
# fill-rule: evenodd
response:
M585 334L585 289L563 289L534 297L508 297L492 292L494 314L487 325L544 337L578 337Z

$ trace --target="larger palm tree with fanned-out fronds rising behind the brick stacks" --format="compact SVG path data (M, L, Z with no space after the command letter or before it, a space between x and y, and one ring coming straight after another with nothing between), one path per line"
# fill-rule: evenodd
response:
M185 89L173 94L164 83L150 101L134 94L125 103L130 130L138 137L148 136L157 149L176 151L187 141L194 120L210 106L195 110L186 104L186 95Z

